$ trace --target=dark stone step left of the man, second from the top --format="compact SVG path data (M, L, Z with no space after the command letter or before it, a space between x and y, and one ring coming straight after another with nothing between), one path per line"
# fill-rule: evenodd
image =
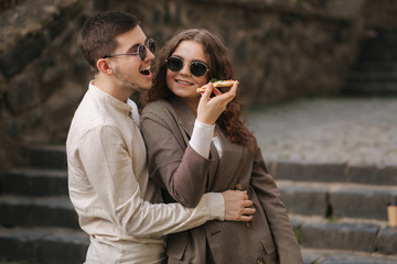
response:
M2 176L2 194L23 196L68 195L66 169L20 168Z

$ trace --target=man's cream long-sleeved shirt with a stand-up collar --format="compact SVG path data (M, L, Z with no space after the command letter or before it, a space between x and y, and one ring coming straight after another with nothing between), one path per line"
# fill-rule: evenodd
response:
M131 100L122 102L94 81L73 118L66 141L68 187L90 238L86 263L160 263L165 234L224 220L221 194L205 194L194 209L161 204L149 180L138 119Z

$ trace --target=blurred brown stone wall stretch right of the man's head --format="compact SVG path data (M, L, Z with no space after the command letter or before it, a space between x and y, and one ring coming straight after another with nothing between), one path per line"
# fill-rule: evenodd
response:
M355 58L361 34L355 21L258 1L180 2L137 1L133 7L110 8L137 13L160 45L175 30L187 28L205 28L222 36L247 103L335 94Z

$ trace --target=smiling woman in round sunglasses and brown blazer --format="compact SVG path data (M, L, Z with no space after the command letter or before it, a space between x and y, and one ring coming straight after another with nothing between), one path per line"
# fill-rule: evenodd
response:
M193 207L204 193L244 189L256 213L248 223L210 221L169 235L169 263L303 263L276 183L240 120L237 99L213 120L215 125L196 120L203 107L196 89L206 85L210 92L212 78L235 79L235 74L227 48L206 30L183 31L160 51L141 119L149 174L167 202ZM197 125L212 139L190 142Z

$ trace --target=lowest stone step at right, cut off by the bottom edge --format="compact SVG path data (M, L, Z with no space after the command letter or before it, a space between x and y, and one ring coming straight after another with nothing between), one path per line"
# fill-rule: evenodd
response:
M397 256L354 251L302 249L304 264L396 264Z

